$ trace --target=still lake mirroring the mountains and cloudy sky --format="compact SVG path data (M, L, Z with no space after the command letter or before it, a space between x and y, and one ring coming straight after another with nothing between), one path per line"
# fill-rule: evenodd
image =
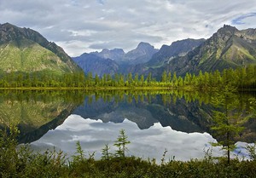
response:
M68 156L76 152L79 141L87 156L95 152L101 158L108 144L110 152L119 130L131 144L127 155L144 159L189 160L224 155L212 142L224 141L214 126L214 112L222 111L214 100L224 98L230 115L237 119L250 113L248 100L255 93L236 93L222 97L218 92L185 92L178 90L61 90L2 91L0 94L1 128L18 124L19 142L30 143L33 150L62 150ZM213 104L212 104L213 103ZM233 119L234 120L234 119ZM244 148L256 138L256 122L248 118L242 123L233 157L247 158ZM215 125L216 126L216 125Z

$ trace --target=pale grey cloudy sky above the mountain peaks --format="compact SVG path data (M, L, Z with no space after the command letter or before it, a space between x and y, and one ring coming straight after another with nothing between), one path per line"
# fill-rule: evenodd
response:
M256 27L255 0L1 0L0 12L1 24L31 28L70 56Z

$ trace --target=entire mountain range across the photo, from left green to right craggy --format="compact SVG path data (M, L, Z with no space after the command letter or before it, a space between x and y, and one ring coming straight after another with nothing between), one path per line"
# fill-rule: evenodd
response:
M184 39L155 49L149 43L139 43L127 53L123 49L102 49L69 57L61 47L49 42L40 33L9 23L0 25L0 73L92 72L93 75L119 73L152 73L160 78L163 71L198 73L223 71L256 64L256 29L238 30L224 25L212 37Z

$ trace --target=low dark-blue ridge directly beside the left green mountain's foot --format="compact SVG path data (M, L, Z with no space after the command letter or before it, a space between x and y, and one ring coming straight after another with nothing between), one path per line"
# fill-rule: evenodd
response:
M84 73L91 72L93 77L97 74L102 76L103 74L113 75L118 72L118 64L110 59L104 59L94 54L80 55L79 57L74 57L73 60L83 69Z

